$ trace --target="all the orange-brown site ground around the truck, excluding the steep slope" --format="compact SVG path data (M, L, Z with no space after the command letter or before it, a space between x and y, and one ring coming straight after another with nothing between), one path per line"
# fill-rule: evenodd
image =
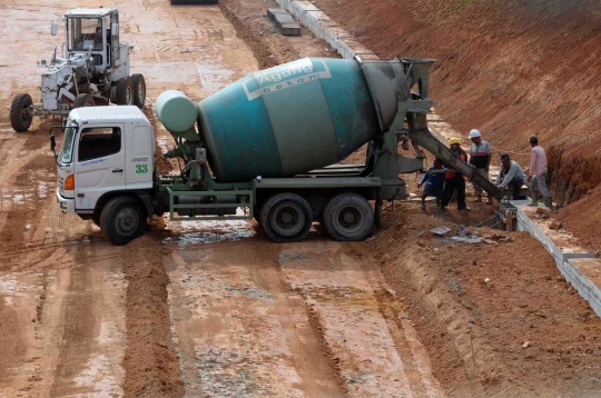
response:
M486 228L477 233L490 243L449 239L493 206L395 203L381 230L351 243L318 225L278 245L255 222L156 219L115 247L91 221L62 215L48 140L58 119L16 133L8 106L19 92L39 99L36 61L60 40L50 21L101 4L0 4L0 397L601 394L601 319L544 249ZM278 34L265 17L272 0L111 6L135 46L132 72L146 77L159 153L173 145L151 109L162 91L200 100L259 68L337 57L306 30ZM160 172L176 167L158 161ZM431 232L444 226L446 238Z

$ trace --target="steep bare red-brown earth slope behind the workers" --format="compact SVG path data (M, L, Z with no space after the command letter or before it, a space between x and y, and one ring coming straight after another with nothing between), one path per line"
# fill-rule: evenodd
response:
M601 3L588 0L317 0L381 58L434 58L437 112L528 166L536 133L555 201L601 182ZM464 139L467 142L466 139Z

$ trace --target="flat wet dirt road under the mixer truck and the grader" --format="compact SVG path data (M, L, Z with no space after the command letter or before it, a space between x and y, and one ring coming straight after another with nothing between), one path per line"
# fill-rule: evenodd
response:
M364 245L316 232L279 246L253 223L167 222L112 247L91 221L58 211L56 121L16 133L7 106L18 92L38 100L35 63L60 41L50 21L99 4L0 6L0 397L442 396ZM201 99L258 69L236 13L116 7L148 107L165 89ZM289 46L290 57L323 51L312 37ZM157 141L171 142L159 126Z

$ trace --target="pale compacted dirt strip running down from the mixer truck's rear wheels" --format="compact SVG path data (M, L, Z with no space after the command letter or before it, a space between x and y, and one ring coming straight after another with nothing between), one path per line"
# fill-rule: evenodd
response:
M348 396L444 397L403 306L359 245L288 245L287 283L304 300L322 351Z

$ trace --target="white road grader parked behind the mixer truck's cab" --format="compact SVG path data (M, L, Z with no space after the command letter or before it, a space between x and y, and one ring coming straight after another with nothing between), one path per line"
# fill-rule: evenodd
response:
M41 79L40 103L20 93L10 107L10 122L14 131L27 131L35 116L67 116L73 108L135 105L146 101L142 74L129 74L129 50L132 46L119 41L119 11L111 9L75 9L65 14L62 58L58 46ZM52 22L56 36L58 23Z

